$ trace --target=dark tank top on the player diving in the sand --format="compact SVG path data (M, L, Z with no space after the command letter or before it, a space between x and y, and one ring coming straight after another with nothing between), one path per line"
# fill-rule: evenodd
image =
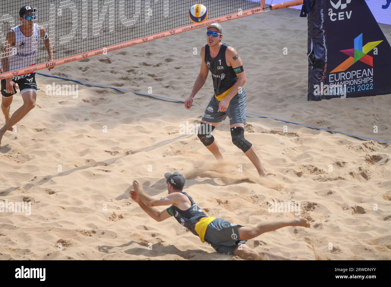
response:
M178 207L171 205L169 208L167 208L167 212L171 216L174 216L181 225L185 226L194 235L198 236L197 232L195 232L195 224L199 221L199 219L207 216L187 193L183 194L189 198L192 206L190 206L190 208L187 210L181 210Z

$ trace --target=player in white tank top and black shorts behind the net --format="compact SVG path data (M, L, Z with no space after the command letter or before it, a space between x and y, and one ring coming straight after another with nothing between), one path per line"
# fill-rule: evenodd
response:
M43 39L43 44L49 55L49 61L53 61L53 48L50 39L43 26L33 23L36 18L36 9L31 6L23 6L19 10L21 24L9 30L2 55L2 72L8 72L35 65L38 55L39 40ZM48 68L50 71L53 67ZM22 94L23 105L11 116L9 111L16 94L16 84ZM1 80L2 103L1 109L5 117L5 125L0 129L0 144L4 133L12 130L13 125L20 121L29 111L35 107L37 98L37 83L35 73L18 75Z

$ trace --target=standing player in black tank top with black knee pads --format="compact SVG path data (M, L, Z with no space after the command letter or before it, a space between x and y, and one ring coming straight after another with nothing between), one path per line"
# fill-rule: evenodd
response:
M195 94L204 86L208 78L209 69L212 73L215 94L201 119L198 137L217 160L222 160L222 153L211 133L228 116L233 144L251 160L260 176L275 176L273 173L266 172L254 146L244 138L247 94L243 87L246 83L246 74L242 60L234 48L221 43L223 36L219 23L213 23L207 29L208 44L201 49L201 71L195 80L192 93L185 101L185 108L190 109Z

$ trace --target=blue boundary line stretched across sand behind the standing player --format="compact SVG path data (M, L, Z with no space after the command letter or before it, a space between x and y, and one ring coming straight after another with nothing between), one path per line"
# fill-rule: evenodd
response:
M65 78L65 77L59 77L59 76L55 76L55 75L43 74L43 73L38 73L38 72L36 72L36 74L42 75L42 76L46 76L46 77L59 78L59 79L62 79L62 80L68 80L68 81L72 81L72 82L83 83L83 84L87 84L87 85L90 85L90 86L104 87L104 88L109 88L109 89L115 89L115 90L118 90L118 91L124 91L124 92L140 94L140 95L143 95L143 96L150 96L152 98L158 98L158 99L162 99L162 100L170 100L170 101L173 101L173 102L181 102L181 103L185 102L185 101L182 101L182 100L177 100L177 99L172 99L172 98L167 98L167 97L162 97L162 96L156 96L154 94L145 94L145 93L140 93L140 92L136 92L136 91L121 89L121 88L117 88L117 87L105 86L105 85L101 85L101 84L95 84L95 83L84 82L84 81L74 80L74 79ZM381 143L391 143L389 141L382 141L380 139L372 139L371 137L364 137L362 135L353 135L353 134L348 134L346 132L339 132L337 130L328 130L326 128L314 127L314 126L306 125L306 124L303 124L303 123L295 123L293 121L285 121L284 119L277 119L277 118L272 118L272 117L267 117L267 116L260 116L260 115L257 115L257 114L251 114L249 112L246 113L246 114L250 115L250 116L255 116L257 118L274 119L275 121L283 121L284 123L291 123L291 124L299 125L299 126L302 126L302 127L314 128L316 130L324 130L326 132L335 133L335 134L348 135L349 137L355 137L355 138L358 138L358 139L369 139L369 140L377 141L377 142L381 142Z

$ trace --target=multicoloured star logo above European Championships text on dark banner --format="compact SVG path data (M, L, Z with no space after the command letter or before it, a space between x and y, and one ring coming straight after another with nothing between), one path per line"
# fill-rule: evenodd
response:
M348 70L353 64L357 61L361 61L371 67L373 67L373 57L367 55L371 50L373 50L377 45L382 43L382 41L368 42L365 46L362 46L362 34L354 39L354 49L340 50L348 56L350 56L346 61L340 64L337 68L331 71L331 73L343 72Z

